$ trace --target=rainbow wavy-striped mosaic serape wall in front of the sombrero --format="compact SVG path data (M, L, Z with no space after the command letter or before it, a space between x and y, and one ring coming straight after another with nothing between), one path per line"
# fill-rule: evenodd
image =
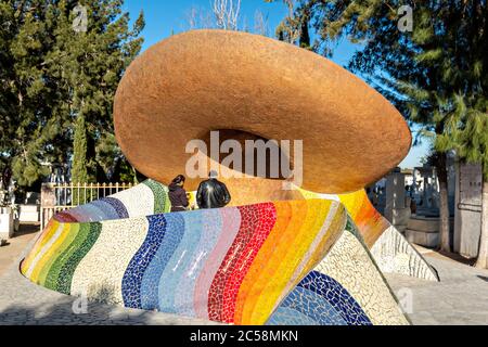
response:
M339 202L168 210L167 189L146 181L59 214L22 273L65 294L224 323L408 323ZM341 270L355 265L355 247L369 271L355 274L356 287ZM337 273L324 270L332 262ZM382 310L358 291L367 285Z

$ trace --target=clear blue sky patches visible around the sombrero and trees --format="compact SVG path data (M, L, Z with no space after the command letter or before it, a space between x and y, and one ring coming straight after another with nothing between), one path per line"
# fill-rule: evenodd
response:
M124 4L124 10L129 12L132 21L138 17L141 10L144 12L143 50L169 37L171 33L178 34L188 30L190 28L188 17L192 8L209 11L210 0L126 0ZM281 0L272 3L267 3L265 0L242 0L241 22L244 22L245 18L247 25L253 28L256 11L260 11L268 18L270 35L274 34L275 27L287 14L287 8ZM335 49L332 60L344 66L356 49L354 44L344 40ZM427 142L412 147L400 166L408 168L420 166L420 158L425 155L427 147Z

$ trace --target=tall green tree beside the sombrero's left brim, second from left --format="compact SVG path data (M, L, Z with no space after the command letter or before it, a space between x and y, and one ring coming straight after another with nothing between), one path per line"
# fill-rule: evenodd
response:
M106 180L107 172L103 172L106 165L97 162L98 143L113 132L112 105L118 81L142 44L142 39L136 39L144 26L142 14L129 30L129 17L121 13L121 3L120 0L85 1L88 27L80 33L73 31L74 14L66 12L69 15L63 17L60 39L52 52L52 59L62 62L55 73L67 86L68 113L72 117L82 114L86 120L90 181ZM67 3L62 1L61 5Z

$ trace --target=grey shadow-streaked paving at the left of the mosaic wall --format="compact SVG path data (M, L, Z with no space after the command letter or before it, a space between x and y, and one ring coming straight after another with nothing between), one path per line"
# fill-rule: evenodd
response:
M35 242L24 245L11 262L4 256L2 261L10 266L0 274L0 325L211 325L215 322L182 318L175 314L128 309L99 303L88 303L86 308L76 297L64 295L35 285L18 271L18 264ZM15 239L11 240L13 245ZM25 243L27 239L23 239ZM17 242L16 243L22 243ZM10 246L8 246L10 247ZM1 247L0 253L7 248ZM7 259L7 260L5 260ZM77 313L76 313L77 312Z

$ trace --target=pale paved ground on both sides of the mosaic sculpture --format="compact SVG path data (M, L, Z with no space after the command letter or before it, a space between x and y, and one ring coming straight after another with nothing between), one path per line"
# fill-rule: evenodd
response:
M25 232L0 248L0 325L5 324L214 324L174 314L89 303L76 314L74 297L34 285L18 261L34 233ZM21 250L23 249L23 250ZM488 270L477 270L428 249L420 249L441 282L387 274L413 324L488 324ZM76 303L75 303L76 301ZM80 308L79 305L75 305Z

